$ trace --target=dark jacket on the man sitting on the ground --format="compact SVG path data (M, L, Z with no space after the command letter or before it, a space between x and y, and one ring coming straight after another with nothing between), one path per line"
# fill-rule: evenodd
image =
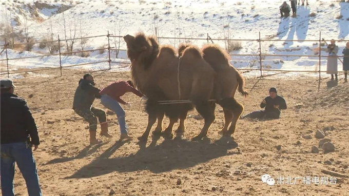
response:
M264 100L266 104L261 103L261 108L265 107L264 111L267 116L268 113L272 113L273 115L271 115L270 117L278 119L281 113L280 110L287 109L286 101L282 96L277 95L274 99L272 99L272 97L270 96L267 96ZM274 108L274 105L279 105L279 109Z

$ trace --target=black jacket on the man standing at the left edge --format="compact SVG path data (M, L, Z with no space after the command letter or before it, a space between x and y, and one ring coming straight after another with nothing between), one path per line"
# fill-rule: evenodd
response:
M1 94L1 144L26 142L39 145L40 140L27 102L12 93Z

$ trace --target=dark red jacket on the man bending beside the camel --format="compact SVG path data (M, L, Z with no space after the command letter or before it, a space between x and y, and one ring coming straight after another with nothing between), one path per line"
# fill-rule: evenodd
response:
M120 98L120 96L124 95L126 92L133 92L134 94L138 95L139 97L143 96L143 94L140 91L133 88L126 81L119 81L119 82L111 83L107 87L103 88L100 91L100 94L101 95L103 95L103 94L109 95L109 96L113 97L115 100L117 100L119 103L126 104L126 102Z

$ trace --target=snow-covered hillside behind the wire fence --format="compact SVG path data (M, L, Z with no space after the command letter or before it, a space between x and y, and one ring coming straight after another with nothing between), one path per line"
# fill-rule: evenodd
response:
M312 1L309 6L298 6L297 16L280 18L279 6L283 1L239 1L239 0L197 0L197 1L45 1L47 4L34 6L33 1L2 1L1 21L11 18L14 31L23 31L23 17L29 18L28 34L36 40L53 35L53 40L82 36L107 34L134 34L144 31L161 37L177 37L175 40L160 39L161 44L178 46L179 37L277 40L319 40L319 34L326 40L349 40L349 3L336 1ZM42 2L43 3L43 2ZM6 11L5 11L6 10ZM65 11L64 11L65 10ZM37 19L40 16L40 19ZM6 16L6 17L5 17ZM5 19L4 19L5 18ZM20 21L20 23L16 23ZM66 33L64 33L64 22ZM51 25L52 24L52 25ZM5 25L3 25L5 26ZM76 29L76 31L75 31ZM3 34L3 33L2 33ZM111 45L119 39L111 40ZM189 41L189 40L187 40ZM190 40L202 46L205 40ZM183 40L181 40L183 42ZM225 47L227 43L214 41ZM3 43L3 41L2 41ZM89 38L84 49L97 49L107 45L107 37ZM337 43L341 53L345 42ZM80 41L74 44L81 49ZM241 42L242 49L232 54L258 54L258 42ZM267 54L317 54L318 42L263 42L262 53ZM125 43L121 38L121 48ZM315 49L315 51L314 51ZM45 52L35 45L33 52ZM15 52L13 52L15 53ZM104 58L106 52L91 53L93 58ZM114 55L114 54L113 54ZM1 56L4 57L4 54ZM126 58L125 52L119 57ZM259 67L258 56L232 56L237 67ZM323 58L322 70L326 60ZM264 68L316 70L318 57L270 57L263 61ZM339 64L340 65L340 64ZM341 65L340 65L341 66ZM339 67L341 70L341 67Z

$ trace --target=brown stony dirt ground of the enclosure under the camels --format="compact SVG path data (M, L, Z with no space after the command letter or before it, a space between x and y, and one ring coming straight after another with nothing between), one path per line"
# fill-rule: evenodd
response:
M332 175L322 173L323 169L349 175L349 84L342 79L338 86L327 88L328 79L319 83L313 77L247 78L250 96L236 95L245 106L244 114L259 110L272 86L285 98L288 109L278 120L239 120L234 140L221 139L217 133L224 124L222 108L217 106L208 137L200 142L190 141L203 126L203 120L193 117L186 121L182 140L149 136L146 146L137 139L121 142L117 116L108 114L114 137L89 146L88 124L71 109L85 72L64 70L63 76L57 72L14 80L15 92L27 100L38 126L41 145L34 156L44 195L349 195L345 177L335 177L336 184L328 185L303 182L303 177L330 179ZM99 88L130 78L129 72L93 74ZM140 136L147 126L143 105L130 93L123 99L133 103L125 109L129 132ZM104 108L99 100L94 105ZM196 114L195 110L189 113ZM166 119L164 127L167 124ZM320 153L311 153L312 146L318 146L315 133L319 129L332 140L335 152L324 153L320 148ZM331 165L324 163L328 160ZM276 184L263 183L264 174ZM284 184L277 184L281 177ZM287 177L300 179L291 185L286 184ZM14 183L17 195L27 195L18 169Z

